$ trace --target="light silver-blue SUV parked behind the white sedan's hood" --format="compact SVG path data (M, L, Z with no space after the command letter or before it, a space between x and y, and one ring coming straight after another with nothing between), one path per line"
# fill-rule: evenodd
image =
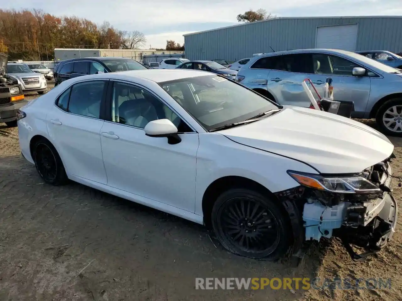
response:
M324 94L332 78L335 100L355 103L353 118L376 118L385 134L402 137L402 72L363 55L335 49L302 49L258 55L236 80L282 105L308 107L301 85L310 78Z

